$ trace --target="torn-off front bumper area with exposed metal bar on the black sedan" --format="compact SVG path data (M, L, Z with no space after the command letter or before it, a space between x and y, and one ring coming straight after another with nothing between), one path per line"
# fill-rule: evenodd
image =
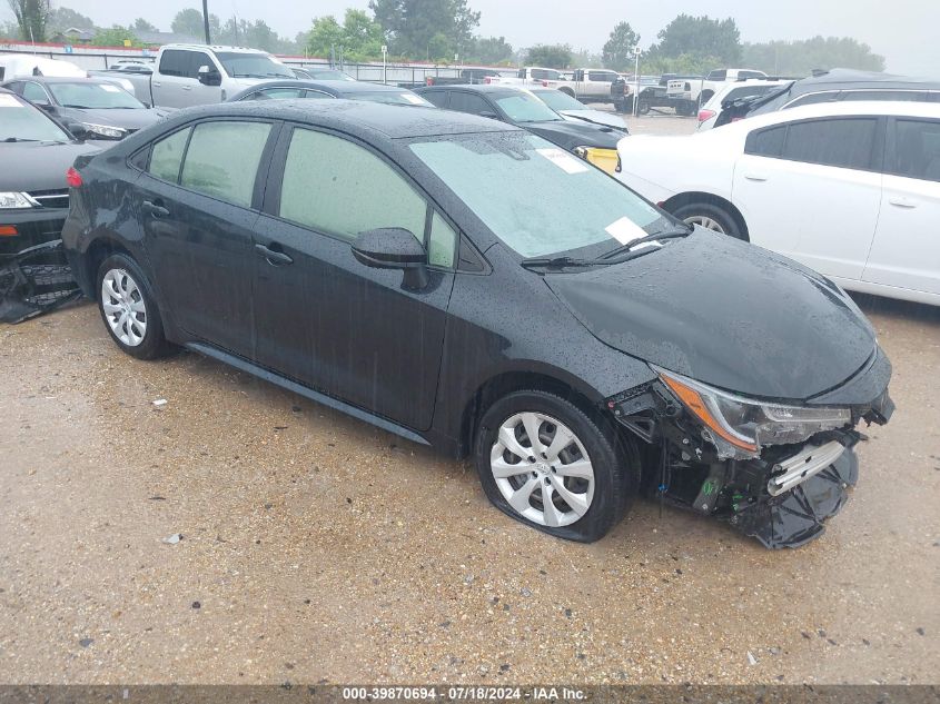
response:
M647 495L726 520L769 548L799 547L819 537L824 520L848 500L858 479L854 447L864 437L855 427L890 419L889 379L890 364L879 349L843 385L863 389L861 398L869 399L839 397L851 414L843 427L753 452L730 453L728 443L661 380L607 399L606 406L649 446ZM832 393L825 398L829 403Z

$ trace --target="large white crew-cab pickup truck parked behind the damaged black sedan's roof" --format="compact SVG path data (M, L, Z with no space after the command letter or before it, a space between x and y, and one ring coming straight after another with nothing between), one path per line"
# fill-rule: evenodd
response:
M98 75L105 76L106 71ZM221 102L264 80L293 79L284 63L265 51L241 47L166 44L157 53L154 72L120 77L133 85L142 103L155 108L188 108Z

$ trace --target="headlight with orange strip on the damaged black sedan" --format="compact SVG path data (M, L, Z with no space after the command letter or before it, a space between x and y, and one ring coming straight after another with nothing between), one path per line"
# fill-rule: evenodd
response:
M811 435L841 428L852 420L848 408L784 406L742 398L671 371L656 373L713 437L745 453L756 454L764 445L802 443Z

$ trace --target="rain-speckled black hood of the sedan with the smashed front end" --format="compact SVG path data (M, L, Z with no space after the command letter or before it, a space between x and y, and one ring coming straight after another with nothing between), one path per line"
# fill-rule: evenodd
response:
M834 284L702 229L621 265L545 280L601 341L744 396L811 398L875 350L871 325Z

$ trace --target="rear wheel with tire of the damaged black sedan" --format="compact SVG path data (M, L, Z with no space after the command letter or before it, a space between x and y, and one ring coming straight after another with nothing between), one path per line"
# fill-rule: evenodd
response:
M98 268L98 310L115 344L131 357L155 359L171 349L157 301L138 264L111 255Z

